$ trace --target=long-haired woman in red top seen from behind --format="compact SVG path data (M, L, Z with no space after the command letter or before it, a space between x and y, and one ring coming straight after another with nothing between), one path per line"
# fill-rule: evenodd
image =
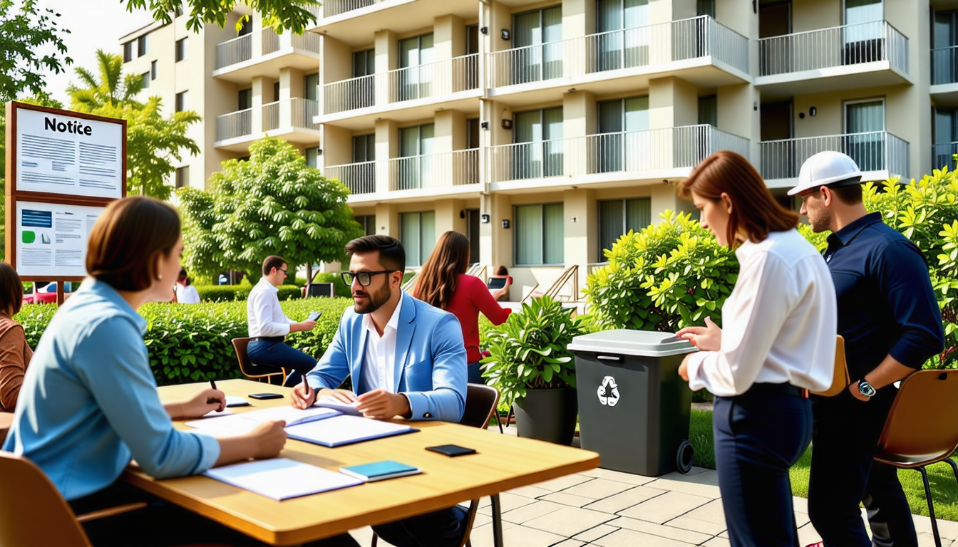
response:
M466 275L468 267L469 239L459 232L446 232L422 265L412 295L459 319L466 341L468 381L484 383L479 369L479 312L493 325L502 325L512 309L500 307L482 280Z

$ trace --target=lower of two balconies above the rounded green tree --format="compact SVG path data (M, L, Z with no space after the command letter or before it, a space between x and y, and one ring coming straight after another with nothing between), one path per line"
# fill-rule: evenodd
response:
M298 145L319 142L319 125L313 118L319 103L308 99L284 99L217 116L217 148L243 151L265 135L281 137Z

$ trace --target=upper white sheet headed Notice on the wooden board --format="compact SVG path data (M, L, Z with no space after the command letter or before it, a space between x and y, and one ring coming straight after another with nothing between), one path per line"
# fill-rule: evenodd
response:
M123 197L124 126L63 112L16 110L16 192Z

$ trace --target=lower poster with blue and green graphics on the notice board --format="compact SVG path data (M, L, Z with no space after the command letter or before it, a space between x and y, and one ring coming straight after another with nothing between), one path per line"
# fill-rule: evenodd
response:
M86 275L86 243L104 207L18 201L16 270L21 276Z

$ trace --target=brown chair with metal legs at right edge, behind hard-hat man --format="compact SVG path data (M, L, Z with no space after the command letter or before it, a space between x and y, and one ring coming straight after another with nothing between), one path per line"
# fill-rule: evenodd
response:
M886 388L889 389L889 388ZM918 469L931 516L935 545L942 546L925 466L945 462L958 481L958 466L948 457L958 448L958 370L924 370L901 380L878 439L877 462Z

